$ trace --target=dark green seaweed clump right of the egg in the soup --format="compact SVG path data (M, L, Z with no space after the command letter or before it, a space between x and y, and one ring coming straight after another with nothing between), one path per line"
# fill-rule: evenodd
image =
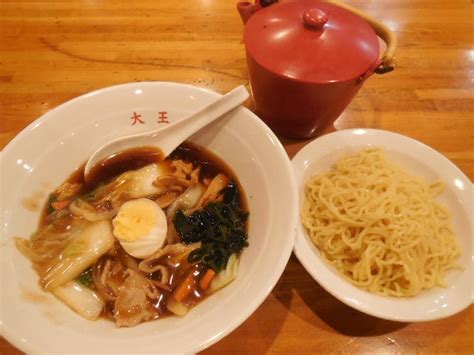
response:
M190 216L178 211L174 226L181 240L186 244L201 242L201 247L189 254L188 261L202 262L216 272L223 270L232 254L240 254L248 246L247 217L233 182L226 187L223 202L210 203Z

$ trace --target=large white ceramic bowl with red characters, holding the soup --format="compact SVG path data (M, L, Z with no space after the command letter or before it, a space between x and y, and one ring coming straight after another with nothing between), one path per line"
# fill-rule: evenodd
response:
M249 243L238 278L183 318L133 328L87 321L44 293L13 237L36 228L47 193L100 145L124 134L154 129L196 111L219 94L189 85L145 82L95 91L48 112L23 130L2 153L0 329L27 352L197 352L241 324L278 281L291 254L297 222L296 183L285 150L254 114L240 108L191 137L224 159L249 202ZM141 115L144 123L131 117ZM272 176L278 176L277 179ZM276 201L278 203L276 203ZM29 208L26 208L28 207Z

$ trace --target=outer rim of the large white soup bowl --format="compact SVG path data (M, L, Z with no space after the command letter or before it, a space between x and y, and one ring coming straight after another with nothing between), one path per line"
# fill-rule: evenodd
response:
M181 88L188 88L192 90L198 90L202 91L203 93L206 93L209 96L213 96L215 98L218 98L222 96L220 93L217 93L215 91L202 88L202 87L197 87L191 84L185 84L185 83L179 83L179 82L172 82L172 81L140 81L140 82L131 82L131 83L122 83L118 85L112 85L104 88L100 88L91 92L87 92L85 94L79 95L77 97L74 97L70 100L67 100L58 106L55 106L54 108L50 109L48 112L42 114L40 117L35 119L33 122L31 122L29 125L27 125L24 129L22 129L8 144L4 147L3 151L0 151L0 166L2 166L3 163L3 157L5 155L9 154L15 154L15 149L17 145L21 144L24 138L33 130L36 129L38 126L43 124L44 122L54 119L54 115L69 106L76 105L80 103L82 100L85 98L88 98L90 96L96 96L96 95L101 95L103 93L108 93L113 90L122 90L122 89L129 89L133 88L135 86L140 86L143 88L143 86L165 86L165 87L181 87ZM296 179L293 174L293 170L291 167L291 162L288 157L288 154L286 153L285 148L279 141L279 139L276 137L276 135L271 131L271 129L252 111L250 111L248 108L242 106L241 109L245 112L247 116L253 121L255 125L257 125L262 132L264 132L268 138L272 141L274 145L274 149L276 152L276 155L279 156L279 159L281 159L281 163L285 165L285 171L286 171L286 179L288 180L289 186L288 189L291 191L289 196L291 197L291 203L296 206L297 205L297 184L296 184ZM2 206L2 209L3 206ZM296 224L298 222L298 214L297 210L293 209L294 211L291 212L291 214L287 215L288 218L288 225L291 226L291 233L288 235L289 241L286 246L286 250L283 250L283 252L280 253L280 257L277 260L273 260L274 263L274 268L270 272L267 273L268 279L272 280L271 282L268 283L268 286L266 288L262 288L260 291L260 296L259 297L253 297L247 307L245 308L244 311L241 312L236 312L235 316L232 317L231 320L227 322L227 326L219 331L218 334L214 334L212 337L209 337L206 340L203 340L200 342L199 346L196 346L193 351L199 352L207 347L215 344L222 338L224 338L226 335L228 335L230 332L235 330L238 326L240 326L247 318L249 318L256 310L257 308L266 300L270 292L273 290L275 285L277 284L278 280L280 279L281 275L283 274L285 267L288 263L288 260L291 256L292 250L293 250L293 245L294 245L294 237L295 237L295 229L296 229ZM3 230L3 226L2 226ZM3 233L2 233L3 234ZM7 236L4 236L2 238L3 240L7 239ZM2 275L0 274L0 278ZM0 301L3 297L0 295ZM1 301L4 302L5 300ZM1 306L1 304L0 304ZM0 307L1 308L1 307ZM8 326L2 321L1 319L1 313L0 313L0 335L3 336L6 340L11 342L15 347L18 349L22 349L23 351L26 352L37 352L38 349L35 348L34 346L30 346L31 342L29 343L23 343L21 342L21 336L14 334L13 332L10 332L8 329Z

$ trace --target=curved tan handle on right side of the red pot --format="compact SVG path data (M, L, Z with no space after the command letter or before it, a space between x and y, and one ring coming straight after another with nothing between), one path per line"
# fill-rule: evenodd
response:
M393 31L382 22L377 21L372 16L369 16L365 12L360 11L352 6L344 4L338 0L326 0L326 2L342 7L343 9L346 9L363 18L369 23L369 25L374 29L375 33L377 33L377 35L382 38L387 45L387 48L380 59L380 64L377 66L377 68L375 68L374 72L377 74L384 74L392 71L395 66L394 55L395 49L397 48L397 37L395 36L395 33L393 33Z

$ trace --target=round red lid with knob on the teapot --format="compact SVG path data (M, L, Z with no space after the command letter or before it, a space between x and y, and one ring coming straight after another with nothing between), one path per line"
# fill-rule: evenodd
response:
M353 80L379 56L378 37L365 20L314 0L257 11L245 25L244 43L248 55L267 70L313 83Z

